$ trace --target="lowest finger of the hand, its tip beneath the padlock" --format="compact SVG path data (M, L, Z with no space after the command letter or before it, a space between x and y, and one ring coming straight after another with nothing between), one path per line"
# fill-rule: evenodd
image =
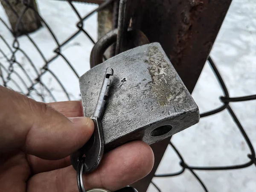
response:
M104 155L99 168L84 175L86 189L100 187L115 191L145 177L154 164L149 145L134 141ZM28 192L78 192L76 170L72 166L34 175L28 182Z

